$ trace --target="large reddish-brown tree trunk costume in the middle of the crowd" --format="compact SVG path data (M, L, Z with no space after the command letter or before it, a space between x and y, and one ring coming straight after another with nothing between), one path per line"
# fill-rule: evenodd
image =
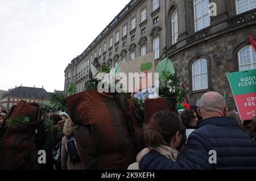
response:
M122 94L89 90L66 99L71 119L81 124L77 149L85 169L124 169L134 162L134 148L141 136L129 101Z

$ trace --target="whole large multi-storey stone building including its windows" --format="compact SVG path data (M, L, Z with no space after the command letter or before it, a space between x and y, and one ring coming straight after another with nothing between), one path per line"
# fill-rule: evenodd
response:
M174 63L191 104L206 91L226 91L233 109L226 73L256 68L249 35L256 38L256 0L133 0L67 66L65 89L73 81L82 91L88 60L115 66L155 51L156 64L166 57Z

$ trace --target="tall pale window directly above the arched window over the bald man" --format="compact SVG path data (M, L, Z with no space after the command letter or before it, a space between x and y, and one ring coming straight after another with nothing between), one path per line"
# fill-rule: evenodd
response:
M195 30L210 26L209 0L194 0Z

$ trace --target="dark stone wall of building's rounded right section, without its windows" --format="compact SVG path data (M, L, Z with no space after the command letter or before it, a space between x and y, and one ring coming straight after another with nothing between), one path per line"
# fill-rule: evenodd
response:
M228 107L236 107L226 73L239 71L238 52L250 45L249 35L256 37L256 9L237 14L236 1L210 1L217 4L217 16L210 26L195 32L193 0L168 1L166 39L167 57L187 87L189 102L196 104L207 91L228 93ZM177 9L179 39L172 45L171 14ZM192 64L199 58L208 63L208 89L193 91Z

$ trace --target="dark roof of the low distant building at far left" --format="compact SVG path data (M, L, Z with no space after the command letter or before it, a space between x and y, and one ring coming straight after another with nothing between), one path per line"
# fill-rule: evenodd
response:
M8 93L7 93L8 92ZM5 94L2 95L2 98L5 97L14 97L14 98L32 98L32 99L51 99L53 93L47 92L43 88L36 87L23 87L19 86L10 91L5 91Z

